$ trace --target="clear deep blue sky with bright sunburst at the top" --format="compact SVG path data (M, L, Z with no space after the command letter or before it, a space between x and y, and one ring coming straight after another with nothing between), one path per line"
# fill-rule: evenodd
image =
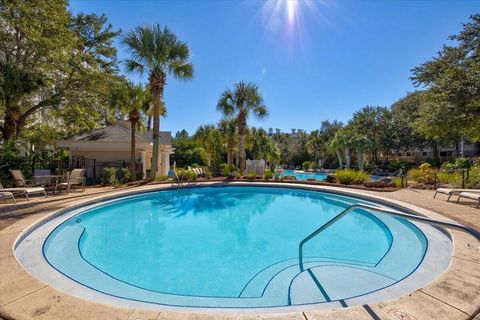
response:
M414 90L410 69L431 59L480 2L81 0L70 7L105 13L124 32L168 25L188 42L195 77L168 80L160 127L193 133L218 122L218 97L240 80L259 85L270 111L252 126L310 131L326 119L348 121L365 105L390 106Z

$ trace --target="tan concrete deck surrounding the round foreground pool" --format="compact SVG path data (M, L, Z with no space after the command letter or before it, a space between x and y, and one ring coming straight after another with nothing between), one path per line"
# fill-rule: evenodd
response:
M170 184L161 185L169 187ZM31 277L13 256L12 246L19 234L46 215L105 195L133 190L148 190L159 185L122 189L87 188L85 192L48 198L19 198L14 207L0 204L0 319L352 319L352 320L480 320L480 243L459 231L451 231L455 252L447 271L426 287L399 299L342 309L294 312L285 314L207 314L185 311L142 311L116 308L88 302L62 293ZM333 187L332 187L333 189ZM335 188L341 190L341 188ZM351 190L349 190L351 191ZM452 219L480 229L480 210L473 202L446 202L433 191L403 189L395 192L355 190L355 193L379 196L410 203L426 210L432 218Z

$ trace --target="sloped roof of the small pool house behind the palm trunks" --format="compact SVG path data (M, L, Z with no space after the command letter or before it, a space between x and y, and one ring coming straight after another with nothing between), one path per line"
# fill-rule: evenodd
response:
M93 131L71 136L63 141L130 142L130 122L119 120L114 124ZM137 133L137 142L152 142L152 132ZM170 131L160 131L160 144L171 144Z

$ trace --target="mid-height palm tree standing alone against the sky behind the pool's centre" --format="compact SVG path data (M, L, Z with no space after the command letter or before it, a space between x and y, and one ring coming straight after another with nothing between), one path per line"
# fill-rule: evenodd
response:
M225 90L217 103L217 109L225 116L234 116L238 127L238 149L240 153L240 175L245 171L245 131L248 116L253 113L258 119L267 116L267 107L258 86L243 81L236 83L234 90Z

